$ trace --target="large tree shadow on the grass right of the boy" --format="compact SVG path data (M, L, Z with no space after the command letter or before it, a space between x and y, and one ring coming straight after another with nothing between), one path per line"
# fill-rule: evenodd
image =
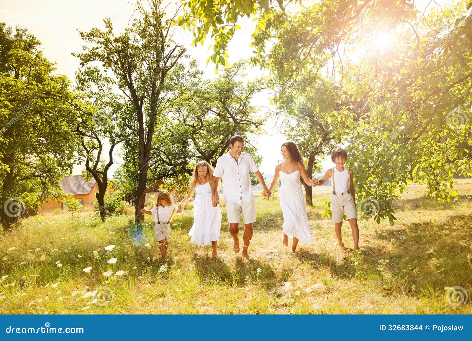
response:
M472 214L451 216L443 225L435 222L405 226L403 240L395 240L390 252L371 252L364 261L363 276L377 276L386 294L410 293L413 296L445 294L445 287L462 286L472 290ZM393 233L393 231L392 231ZM395 231L395 234L398 232ZM391 233L376 237L388 240ZM364 260L367 260L364 257ZM379 271L379 260L388 260ZM385 274L387 280L381 280Z

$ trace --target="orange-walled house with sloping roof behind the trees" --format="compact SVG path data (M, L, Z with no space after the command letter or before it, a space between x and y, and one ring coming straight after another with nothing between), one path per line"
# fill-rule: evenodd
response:
M91 182L86 182L84 179L84 171L82 175L73 175L71 177L64 177L64 180L59 181L59 186L62 188L62 194L72 194L75 199L81 201L86 206L93 206L96 202L95 193L98 192L98 185L95 179ZM51 199L43 203L38 212L52 211L55 209L67 210L66 205L59 203L57 200Z

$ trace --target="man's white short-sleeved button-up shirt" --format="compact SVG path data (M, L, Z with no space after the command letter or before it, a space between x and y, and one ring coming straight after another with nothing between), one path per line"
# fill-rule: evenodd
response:
M228 152L218 158L213 176L223 180L225 201L250 203L254 201L254 193L249 171L255 173L258 170L251 154L242 152L236 162Z

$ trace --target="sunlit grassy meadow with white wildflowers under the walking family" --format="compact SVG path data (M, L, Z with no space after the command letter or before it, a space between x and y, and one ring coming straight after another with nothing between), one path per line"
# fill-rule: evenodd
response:
M472 194L472 179L458 180L455 189ZM190 244L192 211L174 214L165 260L156 258L153 216L146 216L138 238L131 214L105 223L91 211L74 218L67 212L37 215L0 235L0 310L471 314L472 200L464 196L460 202L436 203L423 191L421 185L411 186L396 202L394 226L388 220L380 225L360 220L360 253L340 250L334 225L321 217L329 187L316 187L314 207L307 207L314 243L299 244L294 255L282 245L278 199L256 199L250 259L233 252L224 207L217 260L211 258L211 246ZM352 248L347 222L343 242ZM447 295L454 286L463 287L469 299L457 305L465 292Z

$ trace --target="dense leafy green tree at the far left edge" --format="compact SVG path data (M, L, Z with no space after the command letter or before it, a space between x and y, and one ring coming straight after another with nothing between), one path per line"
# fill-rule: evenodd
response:
M4 27L0 23L0 31ZM16 38L0 34L0 204L6 231L25 206L59 198L59 181L77 161L70 81L53 74L55 64L31 33L23 30Z

